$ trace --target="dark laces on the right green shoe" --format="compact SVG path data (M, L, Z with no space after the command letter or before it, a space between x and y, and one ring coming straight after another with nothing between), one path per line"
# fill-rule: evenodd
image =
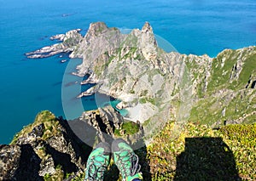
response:
M129 165L127 164L127 161L125 161L125 156L119 156L119 154L117 154L118 156L118 161L119 161L119 166L120 166L120 172L124 171L125 177L128 176L133 176L136 173L138 173L141 169L140 164L138 163L139 159L138 156L134 153L132 153L131 151L127 151L127 150L121 150L121 152L127 152L127 154L125 156L129 156L130 157L130 161L131 161L131 167L129 167ZM126 163L126 164L125 164Z

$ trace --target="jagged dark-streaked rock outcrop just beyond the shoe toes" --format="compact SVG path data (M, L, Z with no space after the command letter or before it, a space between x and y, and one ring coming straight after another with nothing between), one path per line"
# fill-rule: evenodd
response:
M90 139L84 138L85 143L93 144L97 136L100 141L111 144L113 139L121 136L122 139L125 139L134 149L138 149L140 148L139 146L143 145L141 143L143 142L144 136L143 125L140 122L134 123L134 127L137 127L137 132L125 133L123 125L127 121L110 105L99 108L98 110L85 111L83 115L79 117L79 122L86 122L86 124L88 124L86 133L90 133ZM115 130L118 130L119 135L115 134ZM76 133L80 133L80 130L77 130ZM82 139L82 136L80 139Z

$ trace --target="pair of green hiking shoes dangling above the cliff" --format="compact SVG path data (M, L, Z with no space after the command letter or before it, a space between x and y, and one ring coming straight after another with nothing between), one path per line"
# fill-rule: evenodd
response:
M119 168L123 180L142 180L138 157L131 146L124 139L115 139L112 143L112 156L115 165ZM85 181L101 181L108 168L111 158L111 148L106 142L97 144L90 153L86 164Z

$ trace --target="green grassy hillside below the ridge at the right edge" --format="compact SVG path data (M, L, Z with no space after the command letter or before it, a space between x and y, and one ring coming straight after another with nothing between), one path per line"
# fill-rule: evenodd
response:
M249 54L249 53L250 54ZM224 50L212 60L211 76L208 78L207 91L202 92L205 82L205 71L198 73L200 67L194 62L188 64L193 76L199 77L201 83L197 88L198 100L191 110L190 120L212 125L215 122L223 124L227 120L246 118L247 123L255 122L253 113L256 105L255 88L246 88L251 77L256 77L256 47L252 50ZM225 60L223 61L223 59ZM242 71L236 79L230 79L232 69L238 59L242 59ZM201 67L201 69L203 69ZM225 109L225 114L223 110Z

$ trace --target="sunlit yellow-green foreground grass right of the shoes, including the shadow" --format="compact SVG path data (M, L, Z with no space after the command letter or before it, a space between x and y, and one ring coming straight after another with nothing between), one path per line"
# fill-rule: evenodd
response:
M234 174L243 180L256 179L256 124L212 130L188 123L176 139L173 127L173 122L167 123L148 146L152 180L208 180L212 173L216 180Z

